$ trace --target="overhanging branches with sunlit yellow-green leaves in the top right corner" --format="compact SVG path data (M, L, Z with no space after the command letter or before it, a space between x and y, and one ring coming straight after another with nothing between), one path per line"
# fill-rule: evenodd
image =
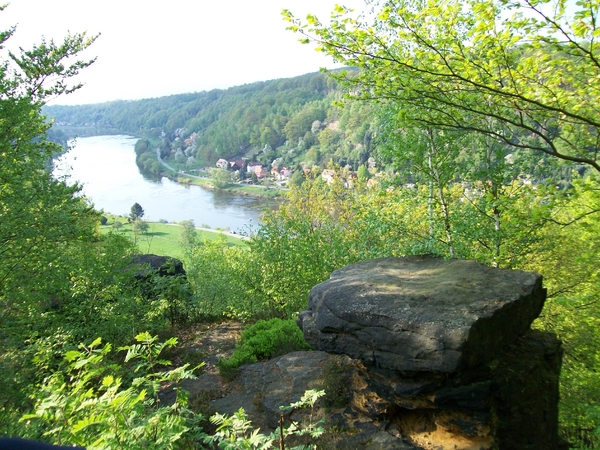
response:
M362 70L351 96L394 102L404 124L459 129L600 172L598 0L383 0L372 23L336 7L289 29Z

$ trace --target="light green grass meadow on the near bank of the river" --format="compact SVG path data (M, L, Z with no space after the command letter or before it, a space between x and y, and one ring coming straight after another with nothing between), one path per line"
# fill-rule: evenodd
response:
M123 233L125 236L137 243L141 253L153 253L155 255L173 256L181 258L183 250L179 243L179 235L181 227L177 224L148 222L149 228L146 233L138 233L137 236L133 232L133 225L127 223L126 217L105 215L108 219L106 225L101 225L100 230L103 233L109 231ZM115 221L123 224L120 228L115 228ZM242 245L245 246L245 241L239 237L231 236L228 233L223 233L218 230L198 229L198 238L203 240L216 240L219 235L224 234L227 245Z

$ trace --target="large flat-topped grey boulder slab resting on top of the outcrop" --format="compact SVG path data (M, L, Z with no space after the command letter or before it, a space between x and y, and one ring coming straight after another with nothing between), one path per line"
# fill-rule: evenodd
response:
M298 324L319 350L400 372L489 361L542 310L540 275L427 256L380 258L315 286Z

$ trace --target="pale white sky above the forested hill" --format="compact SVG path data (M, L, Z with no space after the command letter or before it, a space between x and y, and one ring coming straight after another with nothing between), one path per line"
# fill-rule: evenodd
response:
M287 31L281 10L325 22L336 3L362 11L363 0L9 0L0 29L17 25L8 48L30 48L44 36L101 36L86 52L79 91L53 103L117 99L227 88L332 68L332 61Z

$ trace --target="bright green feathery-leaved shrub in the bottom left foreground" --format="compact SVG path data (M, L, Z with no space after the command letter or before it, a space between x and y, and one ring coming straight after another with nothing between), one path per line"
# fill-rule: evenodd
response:
M200 417L187 409L187 394L177 390L171 406L158 403L161 383L194 378L188 366L160 371L168 361L162 350L176 344L157 343L148 333L124 347L125 362L136 361L130 382L123 366L111 364L110 344L96 339L67 352L61 370L53 372L32 394L33 412L25 414L25 433L56 444L91 448L189 448L198 436Z

